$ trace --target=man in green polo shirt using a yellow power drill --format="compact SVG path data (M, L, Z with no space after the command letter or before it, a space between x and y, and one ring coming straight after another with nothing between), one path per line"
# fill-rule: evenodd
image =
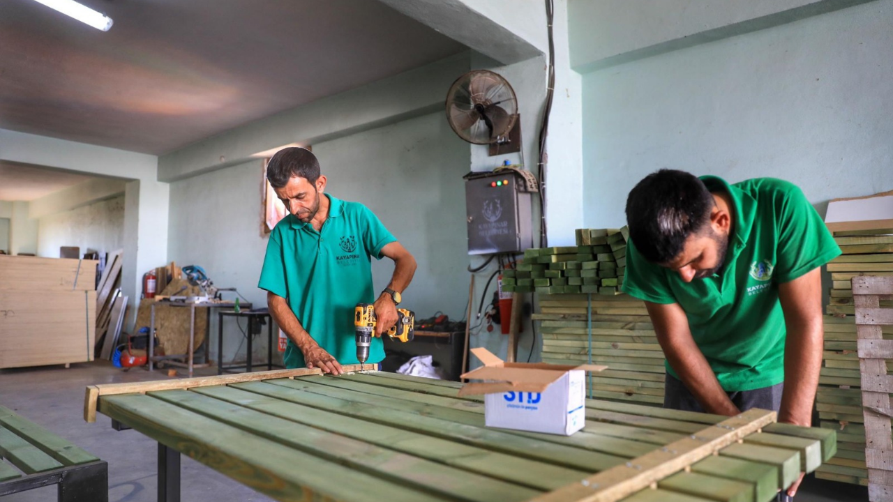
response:
M332 197L309 150L284 148L267 164L267 180L288 209L270 234L258 288L288 336L287 368L340 374L357 364L354 309L372 303L378 317L368 363L384 359L381 333L396 323L396 305L413 280L415 259L366 206ZM394 260L376 299L371 258Z

